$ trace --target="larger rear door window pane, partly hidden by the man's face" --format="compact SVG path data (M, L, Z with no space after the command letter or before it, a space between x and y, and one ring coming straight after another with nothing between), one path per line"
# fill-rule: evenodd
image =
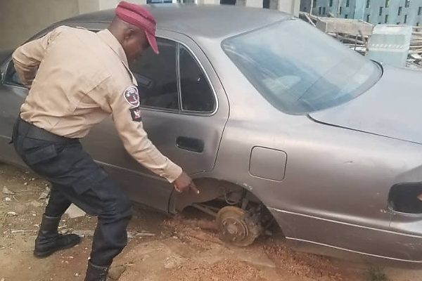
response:
M179 110L177 89L177 44L158 39L160 54L148 48L132 66L138 81L141 106Z

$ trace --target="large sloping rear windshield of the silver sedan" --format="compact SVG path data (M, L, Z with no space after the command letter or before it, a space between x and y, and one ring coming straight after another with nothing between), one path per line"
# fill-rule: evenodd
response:
M378 64L297 19L225 39L222 48L269 103L294 115L346 103L382 73Z

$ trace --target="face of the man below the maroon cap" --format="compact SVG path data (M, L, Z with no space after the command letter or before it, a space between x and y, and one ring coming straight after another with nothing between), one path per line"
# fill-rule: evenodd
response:
M127 61L132 64L137 58L141 57L143 51L149 47L148 39L143 30L130 30L123 41L124 53L126 53Z

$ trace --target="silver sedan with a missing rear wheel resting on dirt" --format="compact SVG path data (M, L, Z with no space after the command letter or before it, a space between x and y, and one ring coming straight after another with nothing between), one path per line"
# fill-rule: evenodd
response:
M160 55L131 66L144 127L201 193L174 192L139 166L106 119L84 148L132 200L203 210L239 246L275 222L293 244L422 262L421 72L367 60L278 11L148 7ZM80 15L32 39L58 25L98 32L113 15ZM11 51L0 66L0 160L23 165L8 142L27 89Z

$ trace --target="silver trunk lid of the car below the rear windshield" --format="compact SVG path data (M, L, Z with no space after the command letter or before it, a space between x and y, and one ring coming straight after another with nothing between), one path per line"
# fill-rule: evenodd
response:
M318 122L422 143L421 74L416 70L385 67L381 81L350 103L310 116Z

